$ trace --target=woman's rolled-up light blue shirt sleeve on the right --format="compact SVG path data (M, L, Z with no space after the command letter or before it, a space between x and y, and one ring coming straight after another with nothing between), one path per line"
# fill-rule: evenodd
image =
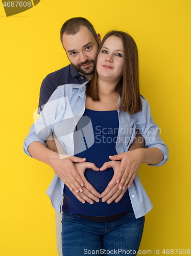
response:
M145 139L146 148L157 147L164 155L163 160L153 166L163 165L169 158L169 150L160 137L160 128L154 123L150 106L146 99L142 99L142 111L140 112L136 127L139 129L141 136Z

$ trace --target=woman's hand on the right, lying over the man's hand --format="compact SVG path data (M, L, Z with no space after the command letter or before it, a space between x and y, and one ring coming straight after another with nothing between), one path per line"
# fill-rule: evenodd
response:
M115 175L115 182L118 183L119 189L127 189L127 187L131 186L142 163L142 157L139 148L137 150L109 156L109 158L111 160L121 160L120 168Z

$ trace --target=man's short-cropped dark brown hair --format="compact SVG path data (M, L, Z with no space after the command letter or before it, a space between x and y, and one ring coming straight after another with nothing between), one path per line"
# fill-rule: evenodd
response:
M66 22L62 25L62 28L60 30L61 42L62 42L63 34L75 35L80 31L82 26L86 27L89 30L89 32L93 35L95 40L98 42L97 33L96 33L96 30L93 28L93 25L86 18L82 18L82 17L75 17L75 18L70 18L66 20ZM63 45L63 42L62 42L62 45Z

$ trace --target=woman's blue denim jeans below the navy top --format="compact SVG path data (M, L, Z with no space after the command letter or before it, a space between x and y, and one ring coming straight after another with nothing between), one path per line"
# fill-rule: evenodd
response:
M145 216L135 219L131 211L110 222L94 222L76 214L62 214L63 256L136 255Z

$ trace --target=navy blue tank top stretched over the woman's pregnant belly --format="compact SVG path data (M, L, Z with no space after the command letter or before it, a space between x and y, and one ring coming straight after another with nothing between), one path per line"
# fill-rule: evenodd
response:
M92 126L91 126L92 124ZM109 156L116 155L115 144L118 134L117 111L93 111L86 109L77 124L74 133L75 156L86 158L100 168L110 161ZM93 142L94 139L94 142ZM85 170L85 177L89 183L101 194L113 177L113 168L104 171ZM64 186L64 204L62 210L73 214L86 216L110 216L132 210L129 191L123 198L110 204L94 202L82 204L67 186Z

